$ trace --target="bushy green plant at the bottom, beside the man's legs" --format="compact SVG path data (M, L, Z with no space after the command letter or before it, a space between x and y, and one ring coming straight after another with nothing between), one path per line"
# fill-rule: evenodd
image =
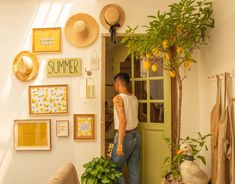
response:
M116 165L104 157L94 158L84 164L85 172L81 176L82 184L115 184L122 175Z

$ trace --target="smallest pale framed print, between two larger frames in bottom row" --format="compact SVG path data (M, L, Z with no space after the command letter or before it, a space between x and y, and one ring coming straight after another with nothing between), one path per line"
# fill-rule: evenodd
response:
M57 137L69 136L69 120L56 121L56 136Z

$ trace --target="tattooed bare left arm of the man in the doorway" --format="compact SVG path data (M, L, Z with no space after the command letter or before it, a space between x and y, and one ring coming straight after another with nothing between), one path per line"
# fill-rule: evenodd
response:
M125 115L124 102L122 97L115 96L113 98L113 104L117 111L119 119L117 155L124 156L122 143L126 133L126 115Z

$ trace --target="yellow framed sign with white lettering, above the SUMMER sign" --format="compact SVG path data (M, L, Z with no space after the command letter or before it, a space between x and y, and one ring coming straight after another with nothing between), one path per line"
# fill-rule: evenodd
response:
M33 52L61 52L61 28L33 28Z

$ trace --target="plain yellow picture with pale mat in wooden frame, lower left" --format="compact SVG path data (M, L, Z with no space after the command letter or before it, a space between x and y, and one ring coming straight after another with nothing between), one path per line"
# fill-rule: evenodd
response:
M51 120L15 120L15 150L50 150Z

